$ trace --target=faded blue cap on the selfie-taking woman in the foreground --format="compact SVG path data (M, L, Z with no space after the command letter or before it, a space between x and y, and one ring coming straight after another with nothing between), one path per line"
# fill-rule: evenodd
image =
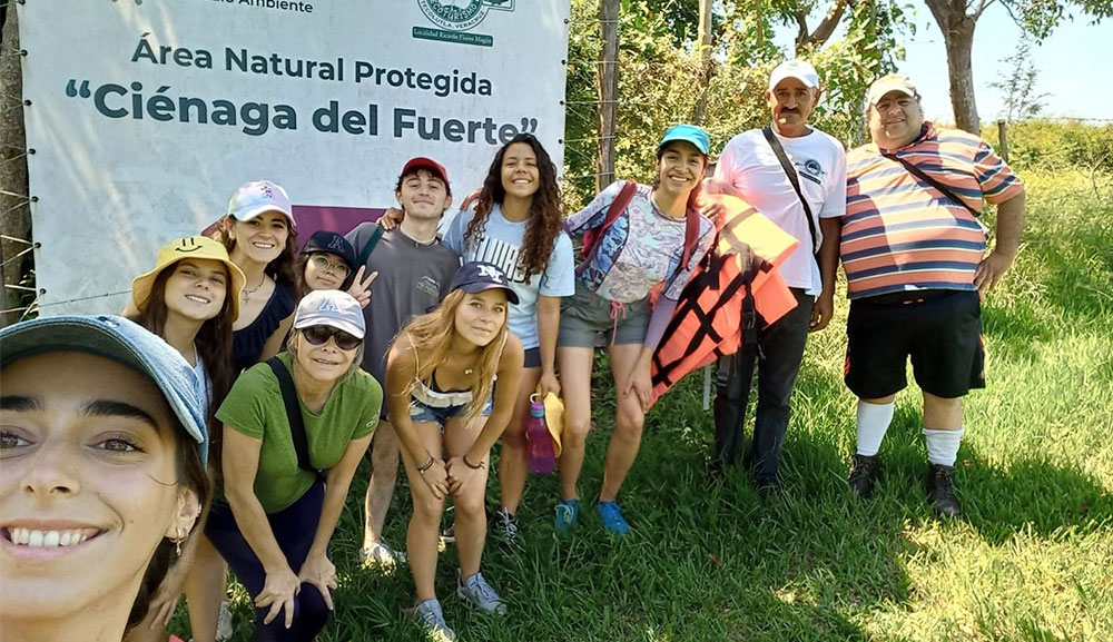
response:
M181 427L208 462L207 399L194 368L158 336L119 316L56 316L0 329L0 368L23 357L81 352L122 364L150 378L166 397Z

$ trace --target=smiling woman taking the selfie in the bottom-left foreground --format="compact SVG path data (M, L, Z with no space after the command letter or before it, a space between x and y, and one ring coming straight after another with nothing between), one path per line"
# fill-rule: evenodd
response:
M122 639L208 497L194 368L114 316L0 330L0 631Z

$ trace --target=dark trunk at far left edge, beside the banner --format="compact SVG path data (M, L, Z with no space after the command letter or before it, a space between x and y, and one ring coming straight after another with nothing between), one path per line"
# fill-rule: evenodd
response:
M14 3L0 8L0 234L30 240L31 211L27 198L27 146L23 135L23 83L19 55L19 26ZM28 274L32 263L27 243L0 239L0 276L2 296L0 309L22 307L22 294L14 289ZM21 254L26 253L26 254ZM22 310L0 314L0 327L16 323Z

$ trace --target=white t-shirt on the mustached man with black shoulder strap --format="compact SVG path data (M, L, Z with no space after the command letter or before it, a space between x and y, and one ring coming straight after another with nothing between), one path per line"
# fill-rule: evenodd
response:
M776 130L774 135L796 166L800 190L811 208L816 236L823 243L819 219L846 214L846 150L841 142L818 129L798 138L785 138ZM719 156L715 177L729 182L747 203L800 240L780 266L780 274L789 287L818 295L823 282L804 206L760 129L730 139Z

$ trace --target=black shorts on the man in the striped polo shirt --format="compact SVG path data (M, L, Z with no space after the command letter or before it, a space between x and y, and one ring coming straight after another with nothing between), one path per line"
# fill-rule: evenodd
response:
M982 303L975 292L928 290L924 300L897 297L850 302L844 381L864 399L887 397L908 385L905 369L924 392L962 397L985 387Z

